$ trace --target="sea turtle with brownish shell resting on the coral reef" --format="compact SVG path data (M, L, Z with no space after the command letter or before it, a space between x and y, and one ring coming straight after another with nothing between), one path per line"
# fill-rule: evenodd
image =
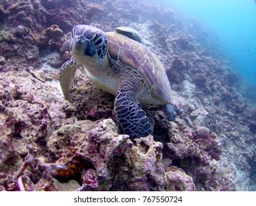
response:
M75 71L83 65L91 82L116 96L114 112L119 132L130 138L152 134L140 103L173 102L165 68L156 55L129 35L103 32L82 24L72 30L69 49L72 59L60 68L60 85L65 98L69 100Z

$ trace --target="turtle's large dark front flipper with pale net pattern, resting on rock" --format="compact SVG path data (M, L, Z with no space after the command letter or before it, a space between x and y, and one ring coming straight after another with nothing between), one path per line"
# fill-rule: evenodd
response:
M136 99L136 91L132 85L121 85L114 102L117 117L117 126L121 134L130 135L130 138L145 137L152 134L151 124L142 105Z

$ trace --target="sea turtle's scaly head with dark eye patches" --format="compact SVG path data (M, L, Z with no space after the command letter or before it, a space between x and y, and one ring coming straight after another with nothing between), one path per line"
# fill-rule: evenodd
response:
M69 49L72 56L82 64L86 60L104 60L108 51L108 36L94 26L80 24L72 30Z

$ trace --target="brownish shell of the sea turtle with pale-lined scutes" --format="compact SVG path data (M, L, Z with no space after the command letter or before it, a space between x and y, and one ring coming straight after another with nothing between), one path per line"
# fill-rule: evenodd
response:
M155 104L172 103L170 83L156 55L141 43L117 32L107 32L107 35L111 57L137 71L148 84L148 92Z

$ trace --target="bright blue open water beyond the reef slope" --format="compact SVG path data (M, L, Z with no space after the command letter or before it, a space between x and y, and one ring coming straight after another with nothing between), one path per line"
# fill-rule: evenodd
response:
M255 0L166 0L198 21L241 78L256 85Z

